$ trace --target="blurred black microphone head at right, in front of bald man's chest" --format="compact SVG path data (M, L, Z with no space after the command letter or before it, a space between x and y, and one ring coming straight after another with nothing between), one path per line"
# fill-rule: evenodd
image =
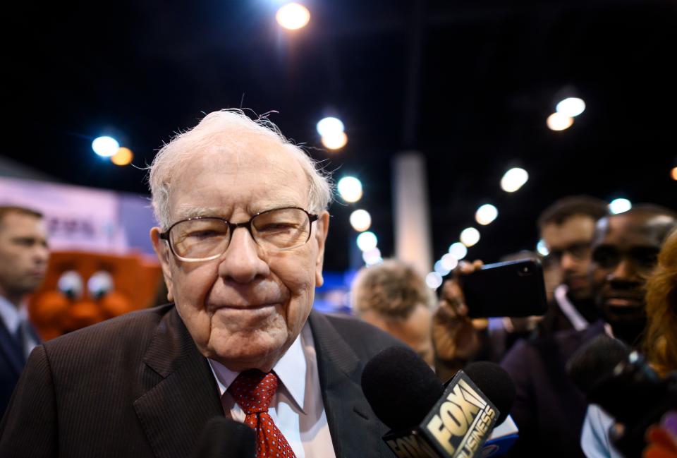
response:
M566 372L578 389L588 394L594 385L610 377L629 354L630 349L623 342L602 334L575 351L566 363Z

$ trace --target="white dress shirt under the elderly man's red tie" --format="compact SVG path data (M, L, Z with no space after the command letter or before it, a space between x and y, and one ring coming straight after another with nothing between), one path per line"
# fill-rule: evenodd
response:
M227 391L239 373L212 359L209 365L219 385L224 413L244 422L245 412ZM279 382L268 413L296 457L336 458L319 387L315 342L308 323L273 370Z

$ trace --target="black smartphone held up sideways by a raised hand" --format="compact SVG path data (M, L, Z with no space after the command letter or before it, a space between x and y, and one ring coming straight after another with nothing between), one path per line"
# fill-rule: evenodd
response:
M547 309L541 263L488 264L459 278L470 318L543 315Z

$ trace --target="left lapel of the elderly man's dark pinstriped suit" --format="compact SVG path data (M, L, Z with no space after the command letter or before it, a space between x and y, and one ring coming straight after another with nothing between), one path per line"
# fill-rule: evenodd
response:
M207 359L172 308L158 325L145 354L146 391L134 402L154 454L188 457L205 422L223 415Z

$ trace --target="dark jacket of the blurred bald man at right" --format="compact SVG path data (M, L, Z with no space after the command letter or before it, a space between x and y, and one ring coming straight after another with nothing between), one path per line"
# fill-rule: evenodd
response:
M580 432L587 403L566 373L566 362L588 340L604 332L598 321L583 331L556 332L518 342L501 366L517 397L511 416L520 429L511 457L583 457Z

